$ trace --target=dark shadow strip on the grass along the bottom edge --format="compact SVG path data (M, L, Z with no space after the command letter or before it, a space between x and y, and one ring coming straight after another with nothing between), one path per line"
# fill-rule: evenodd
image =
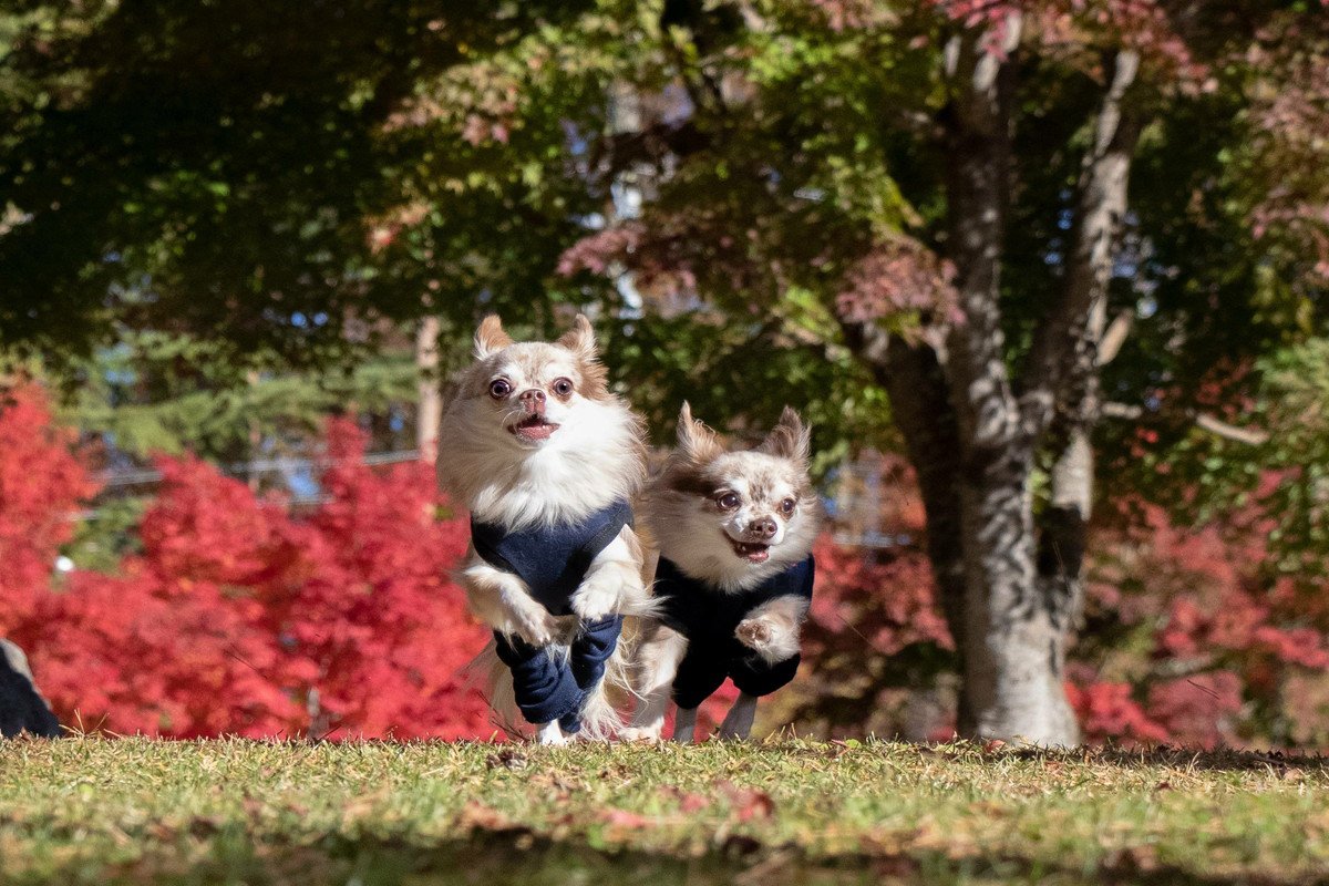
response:
M48 871L52 873L52 871ZM0 877L3 879L3 877ZM7 881L7 882L23 882ZM33 881L36 882L36 881ZM249 886L849 886L868 883L1038 883L1080 886L1312 886L1325 878L1197 875L1119 854L1092 870L1029 858L950 858L945 853L804 853L731 837L695 857L637 849L598 849L583 840L554 841L528 832L482 832L470 840L425 845L401 840L328 837L304 845L255 842L242 829L211 836L207 851L166 853L112 867L70 862L41 882L247 883Z

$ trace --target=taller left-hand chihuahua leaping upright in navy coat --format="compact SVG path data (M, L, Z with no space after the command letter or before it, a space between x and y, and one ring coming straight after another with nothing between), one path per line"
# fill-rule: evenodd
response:
M514 704L542 744L619 725L605 673L621 662L622 616L650 610L630 509L643 457L585 316L554 343L514 343L497 316L480 324L444 413L439 477L470 511L457 580L494 632L481 658L510 675L490 703Z

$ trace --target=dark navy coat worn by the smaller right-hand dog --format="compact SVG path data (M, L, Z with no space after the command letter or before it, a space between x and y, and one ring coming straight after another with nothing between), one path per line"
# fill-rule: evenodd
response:
M674 676L674 701L683 709L695 708L711 697L724 677L731 677L739 692L751 696L771 695L793 679L800 656L795 652L783 662L767 662L735 635L739 622L752 610L777 596L801 596L812 600L812 576L816 562L809 555L746 591L722 591L690 578L670 561L661 558L655 570L655 599L661 600L661 619L687 638L687 652Z

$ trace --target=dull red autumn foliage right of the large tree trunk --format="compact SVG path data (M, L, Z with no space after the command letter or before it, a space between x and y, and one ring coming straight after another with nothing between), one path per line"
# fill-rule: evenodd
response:
M1204 529L1140 506L1131 529L1099 533L1091 630L1071 667L1088 739L1212 747L1325 733L1293 695L1329 672L1329 618L1267 574L1267 538L1257 505ZM1277 732L1288 708L1302 721Z

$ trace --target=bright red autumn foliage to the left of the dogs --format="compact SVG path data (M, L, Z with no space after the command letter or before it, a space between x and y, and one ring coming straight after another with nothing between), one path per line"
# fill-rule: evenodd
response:
M74 571L52 587L92 484L40 393L16 402L0 422L15 437L0 457L0 526L15 526L5 563L24 567L0 586L4 630L62 721L179 737L493 732L460 677L485 635L447 578L466 527L435 518L444 502L428 465L373 472L363 434L332 421L330 501L296 519L210 465L162 458L142 554L117 575Z

